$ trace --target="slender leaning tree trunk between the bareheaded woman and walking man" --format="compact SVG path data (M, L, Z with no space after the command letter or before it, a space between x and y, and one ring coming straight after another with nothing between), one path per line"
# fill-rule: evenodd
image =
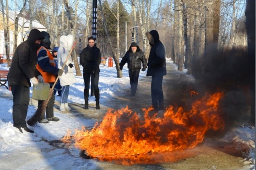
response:
M119 68L119 59L117 59L117 57L115 55L115 52L114 52L114 49L113 49L113 45L112 45L112 42L111 42L111 39L110 39L110 35L108 33L107 23L106 23L106 20L105 20L103 11L102 11L102 2L101 2L101 0L99 0L99 11L100 11L100 13L102 15L103 25L104 25L105 32L106 32L107 37L108 37L108 42L109 42L109 45L110 45L112 56L113 56L114 62L116 64L117 77L121 78L122 77L122 71Z

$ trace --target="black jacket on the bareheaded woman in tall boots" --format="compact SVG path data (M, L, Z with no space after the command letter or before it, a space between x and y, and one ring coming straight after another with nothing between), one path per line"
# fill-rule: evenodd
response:
M80 65L83 66L83 72L84 73L99 73L99 65L101 63L101 53L99 48L94 45L93 47L90 47L87 45L86 48L84 48L81 51L80 54Z

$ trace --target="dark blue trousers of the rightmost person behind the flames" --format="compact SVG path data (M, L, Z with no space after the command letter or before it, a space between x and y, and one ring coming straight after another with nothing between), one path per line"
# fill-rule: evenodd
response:
M163 76L152 76L151 80L151 98L153 108L157 110L164 110L163 104Z

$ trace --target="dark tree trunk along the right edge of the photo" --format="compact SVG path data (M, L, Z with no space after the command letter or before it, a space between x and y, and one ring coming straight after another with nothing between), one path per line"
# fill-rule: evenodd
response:
M250 85L250 123L255 125L255 1L246 1L245 27L247 32L247 49L248 49L248 68L249 68L249 85Z

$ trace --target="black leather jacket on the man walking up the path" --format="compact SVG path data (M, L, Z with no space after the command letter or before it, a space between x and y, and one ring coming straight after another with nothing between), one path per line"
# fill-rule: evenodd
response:
M119 64L120 68L122 68L126 62L128 69L131 70L140 70L141 63L143 65L143 68L147 68L147 59L145 58L143 51L140 50L140 47L138 45L135 52L131 50L130 46L128 51L125 53L125 56L122 57L122 60Z

